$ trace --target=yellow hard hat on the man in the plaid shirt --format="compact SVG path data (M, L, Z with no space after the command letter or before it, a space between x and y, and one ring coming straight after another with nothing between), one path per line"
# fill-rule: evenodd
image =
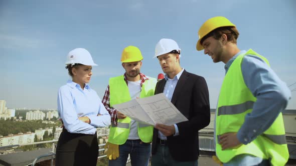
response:
M142 53L139 48L129 45L125 47L121 54L121 62L132 62L132 61L140 61L143 59Z

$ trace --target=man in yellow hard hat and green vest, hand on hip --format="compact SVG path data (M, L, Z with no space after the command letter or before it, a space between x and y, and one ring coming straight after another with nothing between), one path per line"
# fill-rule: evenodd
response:
M289 157L281 111L290 90L268 60L240 50L236 26L223 16L198 31L197 50L224 62L215 119L216 155L223 165L284 165Z

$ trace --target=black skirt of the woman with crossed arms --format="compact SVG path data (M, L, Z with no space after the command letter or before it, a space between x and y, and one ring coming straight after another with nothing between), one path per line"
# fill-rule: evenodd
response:
M97 133L70 133L63 129L56 149L56 166L96 165L98 150Z

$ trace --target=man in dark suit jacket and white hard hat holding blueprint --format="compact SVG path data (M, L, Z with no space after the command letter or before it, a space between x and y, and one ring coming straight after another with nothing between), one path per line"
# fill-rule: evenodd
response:
M164 93L188 118L174 125L156 124L152 143L152 165L198 165L198 130L210 123L209 91L204 77L180 66L176 41L161 39L155 50L165 78L155 94Z

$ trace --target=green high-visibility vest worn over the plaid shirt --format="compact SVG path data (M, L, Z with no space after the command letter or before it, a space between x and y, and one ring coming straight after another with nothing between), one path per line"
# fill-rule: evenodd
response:
M157 83L156 78L149 77L145 80L141 87L140 98L154 95L155 86ZM109 79L109 91L110 91L110 107L114 104L123 103L129 101L130 94L128 86L124 80L123 75L112 77ZM123 144L128 138L130 129L129 117L124 119L118 119L117 125L112 123L109 132L108 141L113 144ZM153 125L147 125L137 122L137 131L139 138L143 142L151 142L153 135Z

